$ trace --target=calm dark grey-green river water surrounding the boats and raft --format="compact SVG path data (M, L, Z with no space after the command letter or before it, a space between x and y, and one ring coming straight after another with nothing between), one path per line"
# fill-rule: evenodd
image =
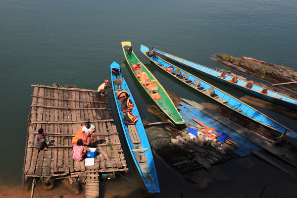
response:
M19 185L23 166L31 84L72 84L97 89L110 79L112 61L125 66L121 41L131 41L140 60L163 87L180 97L212 102L167 78L140 52L140 45L161 49L208 67L222 66L209 57L227 52L297 68L297 1L293 0L1 0L0 1L0 150L1 183ZM143 119L158 119L147 111L153 102L122 67ZM200 75L197 75L201 77ZM236 97L246 93L217 86ZM115 105L109 91L117 129ZM253 106L296 131L297 121ZM131 156L121 141L129 173L102 183L100 197L152 197L146 192ZM289 140L291 141L291 140ZM294 141L293 141L294 142ZM296 142L295 142L296 143ZM161 194L156 197L263 198L297 195L296 179L254 156L232 160L197 174L194 185L155 155ZM130 161L129 161L130 160ZM118 189L118 190L117 190ZM103 193L101 193L101 191Z

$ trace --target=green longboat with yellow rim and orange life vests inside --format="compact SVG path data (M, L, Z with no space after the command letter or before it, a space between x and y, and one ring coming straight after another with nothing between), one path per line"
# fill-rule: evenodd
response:
M185 124L185 121L179 114L165 89L152 75L152 73L150 73L148 68L136 57L134 51L132 50L131 43L122 42L122 48L130 69L132 70L139 84L147 92L148 96L175 124ZM125 48L130 49L130 51L125 50Z

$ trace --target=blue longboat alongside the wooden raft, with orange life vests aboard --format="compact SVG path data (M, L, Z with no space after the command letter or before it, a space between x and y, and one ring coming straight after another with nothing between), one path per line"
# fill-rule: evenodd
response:
M117 111L133 160L145 182L148 192L160 193L151 148L135 101L125 79L120 73L120 65L113 62L110 65L110 70ZM114 75L115 73L112 71L118 72Z

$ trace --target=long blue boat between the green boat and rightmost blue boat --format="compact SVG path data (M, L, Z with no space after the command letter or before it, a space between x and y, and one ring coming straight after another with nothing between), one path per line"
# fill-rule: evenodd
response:
M199 79L198 77L188 73L185 70L180 69L179 67L170 64L169 62L163 60L157 56L149 57L147 55L148 48L146 46L141 46L141 51L147 56L152 62L154 62L157 66L164 69L171 76L179 79L181 82L187 84L198 92L210 97L211 99L216 100L217 102L225 105L226 107L250 118L253 121L256 121L265 127L273 129L277 132L280 132L284 135L287 135L292 138L297 138L297 133L292 131L291 129L285 127L284 125L274 121L268 116L260 113L256 109L247 105L243 101L236 99L226 92L212 86L211 84Z

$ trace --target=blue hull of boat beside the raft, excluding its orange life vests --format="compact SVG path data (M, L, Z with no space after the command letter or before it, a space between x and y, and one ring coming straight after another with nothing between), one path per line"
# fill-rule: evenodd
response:
M110 65L110 70L112 71L113 68L117 68L120 70L120 65L117 64L116 62L113 62ZM114 83L114 79L116 78L122 78L123 79L122 83L119 85L116 85ZM119 113L125 138L126 138L129 150L131 152L131 155L133 157L133 160L137 166L137 169L141 177L145 182L148 192L160 193L160 188L159 188L158 178L156 174L156 169L154 166L151 148L149 146L148 137L147 137L143 122L141 120L140 114L138 112L136 103L121 73L119 74L118 77L116 77L111 72L111 80L112 80L112 88L114 89L113 95L114 95L116 107ZM132 124L132 125L124 124L124 112L121 109L121 101L117 97L117 94L121 91L126 91L129 94L129 98L134 103L134 108L131 110L131 112L138 118L135 124ZM121 95L120 95L120 98L121 98Z

